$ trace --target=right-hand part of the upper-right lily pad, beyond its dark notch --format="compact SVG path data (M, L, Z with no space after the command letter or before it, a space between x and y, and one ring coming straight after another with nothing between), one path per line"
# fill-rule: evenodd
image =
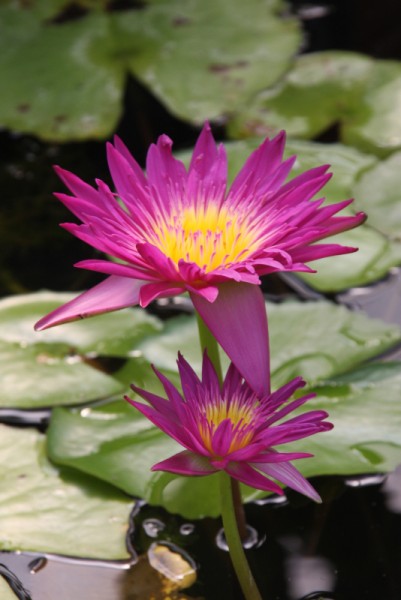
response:
M401 149L401 62L375 61L362 102L344 123L342 140L388 156Z

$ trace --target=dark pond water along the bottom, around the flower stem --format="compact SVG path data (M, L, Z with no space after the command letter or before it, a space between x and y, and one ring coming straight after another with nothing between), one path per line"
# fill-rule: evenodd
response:
M246 508L247 552L263 598L399 600L401 469L388 477L318 478L314 484L322 505L290 493ZM189 523L143 505L134 516L130 544L151 556L155 542L181 549L194 561L197 581L185 595L155 587L155 572L150 575L135 556L130 566L3 552L0 563L21 600L242 598L218 520Z

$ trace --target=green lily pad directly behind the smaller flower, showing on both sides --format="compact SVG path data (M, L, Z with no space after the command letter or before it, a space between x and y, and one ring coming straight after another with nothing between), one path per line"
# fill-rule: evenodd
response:
M339 376L317 388L309 409L330 414L335 428L291 444L312 452L297 461L304 475L361 474L393 469L401 460L401 365L378 363ZM128 408L127 408L128 407ZM48 431L52 460L112 482L186 518L217 516L218 481L150 471L179 446L123 402L90 413L56 409ZM286 445L288 451L290 446ZM260 495L243 488L244 500Z

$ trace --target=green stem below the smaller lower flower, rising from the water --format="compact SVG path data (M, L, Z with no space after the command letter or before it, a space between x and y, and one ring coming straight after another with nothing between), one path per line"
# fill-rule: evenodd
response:
M231 477L225 471L220 474L221 516L231 561L246 600L262 600L245 556L237 528L237 519L231 487Z

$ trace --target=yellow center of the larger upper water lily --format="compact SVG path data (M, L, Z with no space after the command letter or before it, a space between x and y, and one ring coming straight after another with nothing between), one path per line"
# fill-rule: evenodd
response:
M149 241L178 265L193 262L206 272L245 260L254 247L254 235L244 215L225 207L185 208L171 215L169 222L158 223Z

